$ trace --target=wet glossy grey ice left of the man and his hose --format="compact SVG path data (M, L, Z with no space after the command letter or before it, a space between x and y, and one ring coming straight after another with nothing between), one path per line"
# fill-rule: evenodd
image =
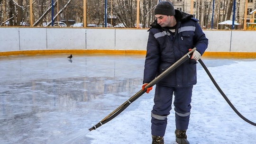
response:
M142 56L62 56L1 58L0 144L45 144L90 128L140 89L132 63L143 67Z

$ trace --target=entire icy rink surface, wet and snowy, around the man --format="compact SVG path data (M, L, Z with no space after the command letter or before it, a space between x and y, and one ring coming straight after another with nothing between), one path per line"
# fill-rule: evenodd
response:
M0 57L0 144L60 142L96 125L141 89L144 55L69 55ZM238 111L256 122L256 59L201 59ZM237 116L197 65L190 143L255 144L256 126ZM73 144L151 144L154 88ZM176 144L174 130L171 110L165 144Z

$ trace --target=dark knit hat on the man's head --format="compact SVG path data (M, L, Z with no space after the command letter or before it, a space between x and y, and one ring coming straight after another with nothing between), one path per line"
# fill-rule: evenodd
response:
M157 14L174 16L175 10L173 4L169 1L160 1L155 7L155 15Z

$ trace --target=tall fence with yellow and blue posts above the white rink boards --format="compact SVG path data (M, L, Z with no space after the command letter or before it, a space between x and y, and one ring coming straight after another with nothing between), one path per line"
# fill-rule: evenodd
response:
M159 1L0 0L0 26L148 28ZM199 19L204 29L246 30L256 23L256 0L168 1Z

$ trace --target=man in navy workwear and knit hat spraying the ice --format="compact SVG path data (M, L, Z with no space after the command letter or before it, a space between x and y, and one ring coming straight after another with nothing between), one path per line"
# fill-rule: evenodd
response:
M177 9L169 1L155 7L155 22L149 31L142 90L164 72L189 49L196 48L191 59L184 62L155 86L154 106L151 112L152 144L164 144L167 116L174 94L175 136L178 144L189 144L186 130L189 125L192 88L196 84L196 63L207 48L198 20ZM148 93L152 87L147 88Z

